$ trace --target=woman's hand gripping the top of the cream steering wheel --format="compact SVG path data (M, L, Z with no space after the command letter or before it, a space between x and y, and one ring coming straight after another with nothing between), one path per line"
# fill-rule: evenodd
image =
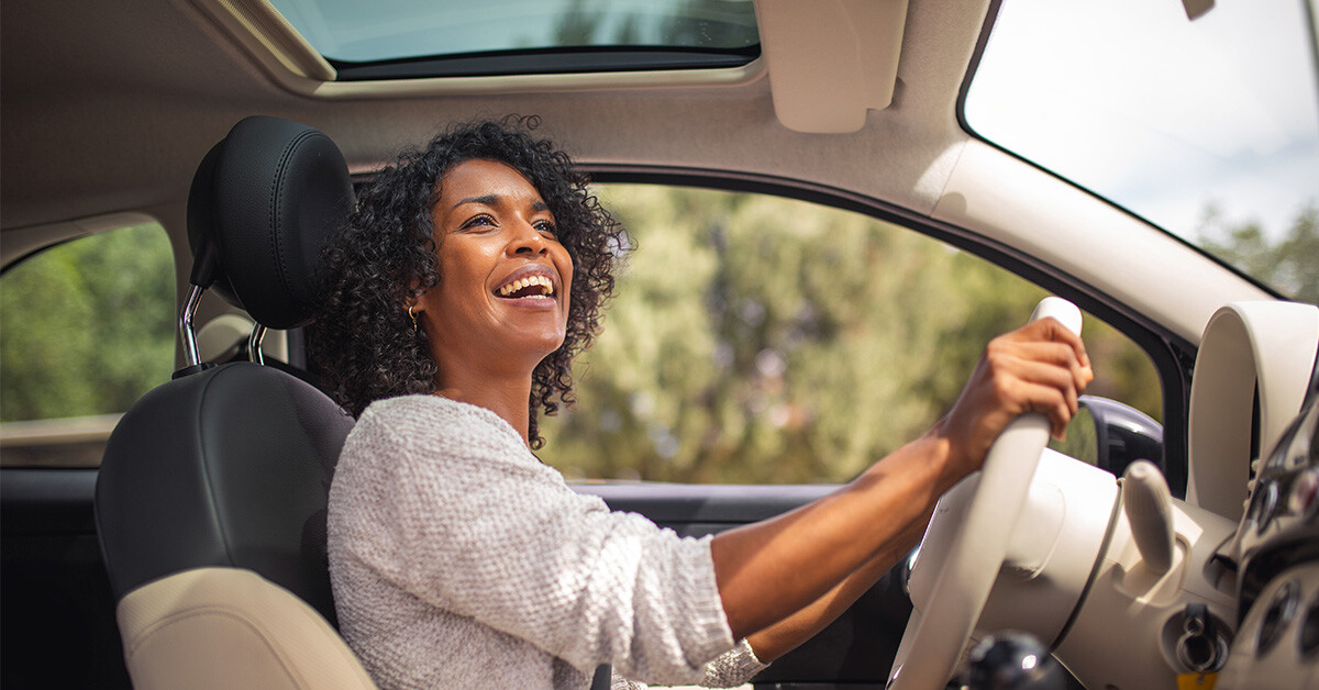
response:
M1045 414L1053 435L1062 438L1093 377L1080 336L1053 318L991 340L956 405L934 429L950 445L950 479L979 470L989 446L1022 413Z

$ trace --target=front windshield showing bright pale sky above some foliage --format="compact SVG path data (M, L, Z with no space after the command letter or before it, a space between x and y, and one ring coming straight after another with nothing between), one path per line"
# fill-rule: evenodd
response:
M1281 294L1319 302L1306 0L1192 12L1175 0L1002 3L966 121Z

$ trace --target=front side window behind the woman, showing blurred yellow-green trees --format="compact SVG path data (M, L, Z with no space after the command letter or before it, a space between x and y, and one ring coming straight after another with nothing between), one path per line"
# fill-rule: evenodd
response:
M568 476L845 482L929 429L984 344L1045 292L873 218L778 197L598 189L636 240L576 406L543 422ZM1159 416L1153 364L1087 315L1089 393Z

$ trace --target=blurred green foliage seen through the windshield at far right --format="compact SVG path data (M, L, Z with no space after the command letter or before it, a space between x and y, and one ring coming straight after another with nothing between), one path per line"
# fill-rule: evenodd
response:
M1275 241L1260 223L1231 223L1213 206L1200 223L1200 245L1287 298L1319 305L1319 206L1306 204Z

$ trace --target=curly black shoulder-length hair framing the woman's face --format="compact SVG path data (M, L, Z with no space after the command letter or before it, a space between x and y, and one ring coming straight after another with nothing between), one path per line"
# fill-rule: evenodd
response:
M629 241L568 156L532 136L538 125L537 116L509 116L452 127L425 148L404 150L360 193L356 211L326 248L324 302L309 329L315 365L353 417L375 400L435 391L438 369L425 330L413 327L405 303L443 278L431 208L445 174L472 160L503 162L526 177L554 214L558 240L572 257L567 334L532 375L533 449L545 443L537 410L554 414L559 402L574 402L572 358L599 332L600 310L613 294L615 263Z

